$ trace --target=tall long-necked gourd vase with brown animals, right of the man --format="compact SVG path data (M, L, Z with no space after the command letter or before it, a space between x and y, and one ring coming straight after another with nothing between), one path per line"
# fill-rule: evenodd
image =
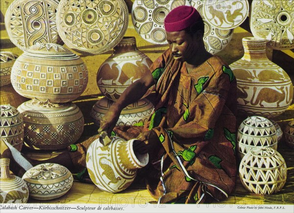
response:
M238 110L267 118L283 113L293 99L288 74L266 55L266 39L243 38L244 56L230 64L237 79Z

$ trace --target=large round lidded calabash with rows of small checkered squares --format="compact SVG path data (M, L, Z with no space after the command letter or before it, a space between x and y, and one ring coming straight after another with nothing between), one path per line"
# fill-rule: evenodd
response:
M35 44L15 61L11 82L27 98L65 103L86 89L88 70L78 55L63 46Z

